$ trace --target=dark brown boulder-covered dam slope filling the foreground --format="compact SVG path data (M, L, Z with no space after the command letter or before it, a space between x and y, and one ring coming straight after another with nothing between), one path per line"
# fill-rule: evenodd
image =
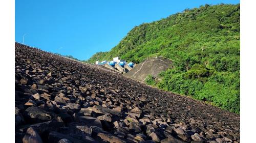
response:
M240 142L240 117L15 43L15 142Z

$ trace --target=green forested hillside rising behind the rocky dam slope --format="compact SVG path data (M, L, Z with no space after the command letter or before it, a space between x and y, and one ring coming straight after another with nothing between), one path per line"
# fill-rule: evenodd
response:
M153 55L174 61L158 88L240 112L240 4L205 5L143 23L89 62L120 56L139 63Z

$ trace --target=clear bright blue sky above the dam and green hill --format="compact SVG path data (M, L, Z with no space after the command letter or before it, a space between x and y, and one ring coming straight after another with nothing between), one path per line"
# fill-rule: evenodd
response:
M87 60L109 51L136 25L204 4L240 1L67 1L16 0L15 40L50 52Z

